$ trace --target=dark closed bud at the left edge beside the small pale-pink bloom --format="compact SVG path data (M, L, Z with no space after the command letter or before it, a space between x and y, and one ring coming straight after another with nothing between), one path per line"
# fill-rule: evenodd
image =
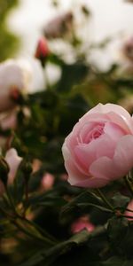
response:
M4 185L7 184L9 171L10 171L10 168L6 160L4 160L3 156L0 156L0 179Z

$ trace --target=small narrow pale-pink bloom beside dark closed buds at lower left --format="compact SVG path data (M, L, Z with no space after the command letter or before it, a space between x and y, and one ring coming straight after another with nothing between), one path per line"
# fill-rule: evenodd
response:
M22 158L18 156L16 150L12 148L6 153L4 159L7 161L10 168L10 172L8 174L8 184L12 184Z

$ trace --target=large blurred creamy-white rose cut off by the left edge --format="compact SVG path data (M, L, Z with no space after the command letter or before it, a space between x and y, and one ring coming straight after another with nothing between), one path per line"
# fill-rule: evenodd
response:
M0 64L0 112L10 110L20 94L27 93L31 77L27 61L11 59Z

